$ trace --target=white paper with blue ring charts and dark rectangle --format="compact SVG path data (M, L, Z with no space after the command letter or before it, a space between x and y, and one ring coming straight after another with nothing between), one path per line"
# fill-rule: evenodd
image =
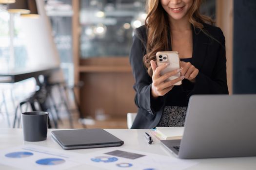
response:
M198 164L195 160L119 148L88 153L83 157L86 164L106 170L185 170Z

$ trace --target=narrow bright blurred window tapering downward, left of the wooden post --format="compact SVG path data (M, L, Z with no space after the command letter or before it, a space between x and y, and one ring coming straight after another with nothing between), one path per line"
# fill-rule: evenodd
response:
M60 58L65 81L74 84L74 64L72 54L72 0L48 0L45 3L47 16L50 18L54 41Z

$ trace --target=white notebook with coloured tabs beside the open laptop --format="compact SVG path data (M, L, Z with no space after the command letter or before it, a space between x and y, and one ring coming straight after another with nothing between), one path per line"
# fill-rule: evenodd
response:
M156 127L150 132L159 140L181 139L184 127Z

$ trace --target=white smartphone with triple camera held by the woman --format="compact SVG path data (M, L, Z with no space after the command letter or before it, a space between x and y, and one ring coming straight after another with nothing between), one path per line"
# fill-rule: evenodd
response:
M169 66L167 68L164 68L160 75L163 75L169 71L173 71L175 69L180 68L179 66L179 54L177 51L159 51L157 52L157 65L161 66L166 63L169 63ZM180 77L180 73L177 73L174 76L171 76L167 79L167 81L174 80L176 78ZM182 81L174 84L174 85L181 85Z

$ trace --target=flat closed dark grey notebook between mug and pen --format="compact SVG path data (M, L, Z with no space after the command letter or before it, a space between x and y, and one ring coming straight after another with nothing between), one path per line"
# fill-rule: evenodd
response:
M74 129L52 131L53 138L66 150L102 148L124 144L118 137L103 129Z

